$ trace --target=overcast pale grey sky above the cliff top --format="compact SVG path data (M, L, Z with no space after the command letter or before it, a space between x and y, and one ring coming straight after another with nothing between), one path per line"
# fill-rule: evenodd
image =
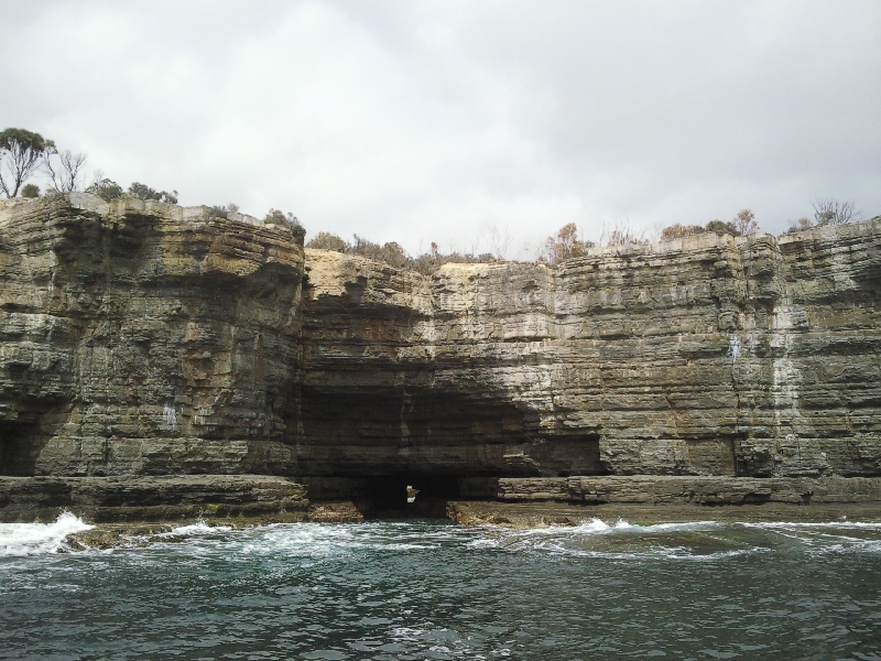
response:
M881 2L0 0L0 129L314 236L881 214ZM39 181L36 183L40 183ZM493 239L493 234L496 239Z

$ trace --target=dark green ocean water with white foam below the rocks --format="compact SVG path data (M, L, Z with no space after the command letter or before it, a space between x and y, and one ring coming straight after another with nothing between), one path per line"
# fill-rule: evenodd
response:
M881 524L0 525L3 659L881 660Z

